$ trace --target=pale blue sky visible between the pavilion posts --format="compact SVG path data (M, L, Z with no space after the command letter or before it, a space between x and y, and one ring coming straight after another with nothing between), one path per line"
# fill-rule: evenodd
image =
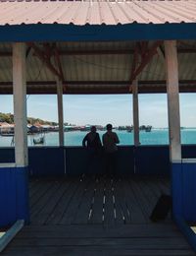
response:
M196 127L196 94L180 95L181 126ZM13 97L0 96L0 112L13 112ZM141 124L168 127L167 95L140 95ZM57 121L56 96L28 96L27 115ZM132 96L64 96L65 122L114 125L132 124Z

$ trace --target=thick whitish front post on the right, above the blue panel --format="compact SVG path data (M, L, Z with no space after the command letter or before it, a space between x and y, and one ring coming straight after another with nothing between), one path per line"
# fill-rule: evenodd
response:
M176 41L165 41L166 74L169 110L170 159L181 161L179 89Z

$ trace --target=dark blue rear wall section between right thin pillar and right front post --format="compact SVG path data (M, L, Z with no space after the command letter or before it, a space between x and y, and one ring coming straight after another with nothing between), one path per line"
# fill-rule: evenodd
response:
M136 174L170 174L168 146L141 146L135 148Z

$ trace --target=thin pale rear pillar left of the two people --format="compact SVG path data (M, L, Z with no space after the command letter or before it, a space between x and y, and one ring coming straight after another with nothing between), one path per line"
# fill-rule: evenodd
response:
M57 101L58 101L58 118L59 118L59 145L64 146L64 106L63 106L63 83L57 80Z

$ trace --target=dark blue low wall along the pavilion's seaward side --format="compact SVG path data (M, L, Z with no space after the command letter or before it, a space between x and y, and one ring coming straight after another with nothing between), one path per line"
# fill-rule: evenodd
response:
M34 176L64 175L64 150L66 150L67 173L77 175L86 172L87 153L82 147L36 147L28 148L29 172ZM0 148L0 162L14 161L13 148ZM196 145L182 146L183 158L196 158ZM132 174L170 173L169 146L120 146L118 172ZM135 165L134 165L135 161ZM93 168L100 172L103 169L103 159L97 160Z

